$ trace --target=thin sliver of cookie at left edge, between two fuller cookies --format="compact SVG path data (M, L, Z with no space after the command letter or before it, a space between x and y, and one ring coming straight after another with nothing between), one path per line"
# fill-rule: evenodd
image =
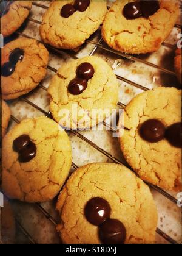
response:
M2 138L4 137L7 127L8 127L8 123L10 121L10 117L11 117L11 112L10 112L10 108L8 107L7 103L5 101L2 100Z

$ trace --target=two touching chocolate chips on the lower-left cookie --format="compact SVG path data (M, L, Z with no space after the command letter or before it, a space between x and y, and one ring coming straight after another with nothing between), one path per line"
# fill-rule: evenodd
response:
M21 135L13 141L13 150L18 152L18 160L26 163L32 160L36 155L36 146L30 141L29 135Z

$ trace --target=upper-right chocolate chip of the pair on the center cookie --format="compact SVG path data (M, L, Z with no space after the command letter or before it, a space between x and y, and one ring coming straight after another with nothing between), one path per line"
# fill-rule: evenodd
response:
M77 77L84 78L86 80L91 79L93 77L94 73L95 73L95 70L94 70L93 66L88 62L82 63L76 69Z

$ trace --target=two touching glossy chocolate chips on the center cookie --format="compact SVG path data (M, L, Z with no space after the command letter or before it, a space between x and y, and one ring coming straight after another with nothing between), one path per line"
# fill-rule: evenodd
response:
M87 81L93 77L95 70L93 66L84 62L76 69L76 78L74 78L68 86L68 90L73 95L79 95L83 93L87 88Z

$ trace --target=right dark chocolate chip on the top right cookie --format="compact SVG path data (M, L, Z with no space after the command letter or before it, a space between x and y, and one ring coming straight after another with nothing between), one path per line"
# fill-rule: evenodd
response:
M150 15L153 15L158 9L160 9L160 4L157 0L143 0L140 1L140 7L142 15L145 18L148 18Z

